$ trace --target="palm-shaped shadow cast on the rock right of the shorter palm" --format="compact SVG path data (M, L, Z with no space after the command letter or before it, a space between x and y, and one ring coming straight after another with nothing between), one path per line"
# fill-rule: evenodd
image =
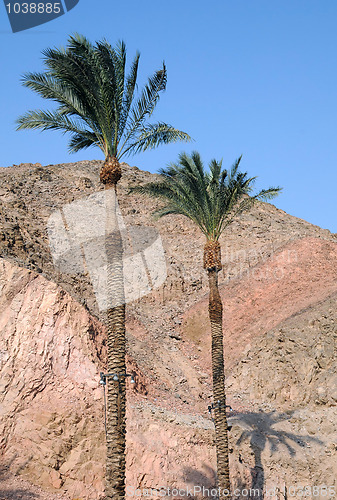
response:
M273 428L275 424L289 420L293 413L294 411L277 413L273 410L269 413L264 413L263 411L240 413L234 417L230 417L231 426L237 424L242 428L241 436L236 441L236 445L239 446L244 441L249 440L251 450L254 454L254 467L251 469L250 488L259 489L261 492L260 498L263 498L265 487L265 471L261 455L267 444L269 444L272 454L278 451L280 447L284 447L291 457L296 455L295 446L306 448L310 443L323 445L323 442L318 438L297 435L292 432Z

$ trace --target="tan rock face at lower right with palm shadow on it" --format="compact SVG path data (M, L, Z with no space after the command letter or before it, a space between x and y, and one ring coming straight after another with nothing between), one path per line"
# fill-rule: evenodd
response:
M250 444L270 485L336 489L336 299L334 293L261 336L228 379L234 400L259 403L258 411L233 418L233 432Z

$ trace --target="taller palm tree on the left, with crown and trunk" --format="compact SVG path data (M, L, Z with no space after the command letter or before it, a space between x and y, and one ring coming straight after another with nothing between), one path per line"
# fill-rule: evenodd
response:
M82 35L71 36L66 48L43 52L46 71L28 73L23 85L57 104L52 111L28 111L17 120L18 129L60 130L70 134L69 151L91 146L102 150L105 161L100 180L106 193L105 247L108 261L107 346L108 381L106 498L125 498L125 303L123 246L117 224L117 183L120 160L161 144L190 137L163 122L148 123L160 93L165 90L165 64L137 92L139 53L126 73L126 48L102 40L91 44Z

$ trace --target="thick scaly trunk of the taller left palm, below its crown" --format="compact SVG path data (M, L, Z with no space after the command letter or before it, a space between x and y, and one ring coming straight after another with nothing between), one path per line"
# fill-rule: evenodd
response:
M117 196L114 189L106 194L107 256L107 370L118 381L107 378L107 459L106 489L108 500L125 499L125 300L123 279L123 242L117 220Z

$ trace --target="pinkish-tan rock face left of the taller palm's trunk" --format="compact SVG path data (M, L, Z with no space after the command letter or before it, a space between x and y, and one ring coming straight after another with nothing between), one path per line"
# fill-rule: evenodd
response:
M34 272L2 260L0 279L4 463L36 484L64 486L73 494L84 481L89 493L101 490L101 362L93 341L102 345L102 327Z

